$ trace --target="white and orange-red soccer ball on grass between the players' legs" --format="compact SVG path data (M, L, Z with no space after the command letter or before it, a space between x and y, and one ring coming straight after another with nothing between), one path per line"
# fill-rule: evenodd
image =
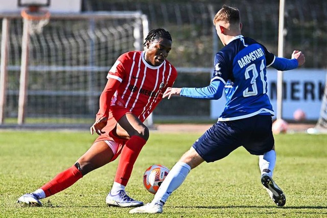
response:
M145 170L143 175L144 187L151 193L155 194L161 183L164 181L168 175L169 169L160 164L155 164L150 166Z

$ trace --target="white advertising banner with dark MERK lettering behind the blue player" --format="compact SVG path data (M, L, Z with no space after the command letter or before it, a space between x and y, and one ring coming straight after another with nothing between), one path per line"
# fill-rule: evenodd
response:
M293 120L293 113L301 109L307 120L319 118L321 100L326 80L326 70L295 69L283 73L283 114L282 118ZM268 96L276 114L277 71L267 70ZM211 101L211 118L217 119L224 109L226 97ZM276 118L276 116L274 117Z

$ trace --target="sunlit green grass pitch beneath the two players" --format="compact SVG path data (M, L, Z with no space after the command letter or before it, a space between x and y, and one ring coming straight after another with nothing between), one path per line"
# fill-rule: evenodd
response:
M200 133L152 132L135 163L127 191L149 202L144 170L152 164L171 168ZM0 132L0 217L326 217L327 136L277 135L276 183L287 203L277 207L260 183L258 158L244 148L192 170L170 197L162 214L129 214L107 207L118 161L90 172L72 187L42 200L43 207L22 207L18 197L34 191L72 166L95 136L87 132Z

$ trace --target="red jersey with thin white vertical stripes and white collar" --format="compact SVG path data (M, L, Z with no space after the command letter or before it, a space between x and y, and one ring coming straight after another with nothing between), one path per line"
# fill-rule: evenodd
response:
M177 77L176 69L168 60L154 67L146 62L144 54L144 51L122 54L107 75L108 79L121 82L112 96L110 106L123 106L142 122L160 102L166 89L173 86Z

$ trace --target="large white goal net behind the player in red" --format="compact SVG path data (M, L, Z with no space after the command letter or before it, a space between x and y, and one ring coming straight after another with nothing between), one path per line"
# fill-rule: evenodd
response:
M2 18L10 20L4 124L16 124L23 21ZM121 54L143 50L148 31L147 17L137 11L51 14L49 24L29 36L24 125L93 123L108 70Z

